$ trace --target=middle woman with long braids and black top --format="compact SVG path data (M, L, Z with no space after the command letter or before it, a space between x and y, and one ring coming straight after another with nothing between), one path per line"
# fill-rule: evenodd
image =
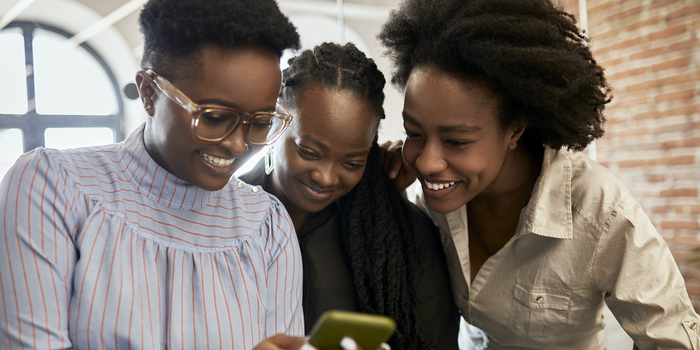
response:
M353 44L289 60L280 102L295 121L243 181L284 204L304 268L306 330L330 309L386 315L392 349L457 349L459 318L437 228L380 164L385 79Z

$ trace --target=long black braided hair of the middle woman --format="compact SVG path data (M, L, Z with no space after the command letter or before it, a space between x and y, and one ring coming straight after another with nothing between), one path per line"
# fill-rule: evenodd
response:
M366 99L384 118L384 75L355 45L323 43L288 63L280 90L284 105L296 106L305 86L323 84ZM434 348L416 315L420 262L409 223L414 214L383 170L376 137L362 179L340 201L342 242L360 310L396 321L392 349Z

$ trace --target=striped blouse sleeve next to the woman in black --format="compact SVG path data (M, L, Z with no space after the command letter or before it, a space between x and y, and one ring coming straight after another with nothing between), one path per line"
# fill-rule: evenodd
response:
M266 334L304 335L301 251L292 220L273 198L269 220L263 225L270 261L267 268Z

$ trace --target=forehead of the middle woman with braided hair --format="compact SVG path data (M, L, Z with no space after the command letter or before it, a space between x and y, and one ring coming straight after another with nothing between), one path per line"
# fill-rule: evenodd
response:
M367 100L320 84L306 87L292 113L297 136L310 135L338 148L369 148L379 125Z

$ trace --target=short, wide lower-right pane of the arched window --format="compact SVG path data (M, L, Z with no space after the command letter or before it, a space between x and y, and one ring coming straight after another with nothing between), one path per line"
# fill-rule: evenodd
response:
M44 132L47 148L78 148L115 143L110 128L49 128Z

